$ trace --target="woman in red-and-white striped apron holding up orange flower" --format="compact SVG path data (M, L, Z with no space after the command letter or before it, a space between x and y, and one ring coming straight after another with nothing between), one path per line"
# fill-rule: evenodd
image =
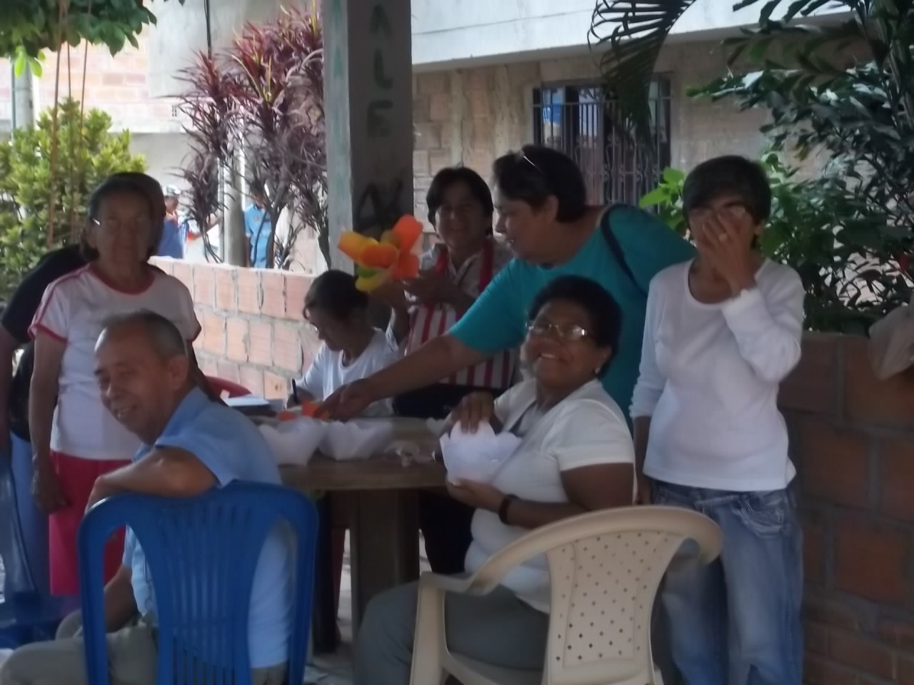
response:
M422 255L420 276L404 284L406 295L388 298L394 332L407 353L448 332L513 258L493 237L492 192L472 169L441 169L431 181L426 205L441 242ZM514 350L496 354L439 383L399 395L394 410L399 416L443 418L474 391L500 395L514 381L516 359ZM462 573L472 519L472 509L446 495L422 495L420 527L436 573Z

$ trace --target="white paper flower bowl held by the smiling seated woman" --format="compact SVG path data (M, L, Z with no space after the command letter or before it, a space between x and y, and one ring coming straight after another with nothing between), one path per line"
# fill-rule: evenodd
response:
M514 433L496 434L488 423L480 424L475 433L464 431L457 424L449 434L441 436L441 457L448 479L488 483L520 442Z

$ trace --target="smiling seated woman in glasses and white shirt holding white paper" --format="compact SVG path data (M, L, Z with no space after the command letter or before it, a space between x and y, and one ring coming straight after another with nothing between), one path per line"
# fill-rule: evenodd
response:
M596 282L552 280L537 295L522 357L532 378L497 400L468 395L453 418L474 430L489 422L522 438L491 483L449 483L474 509L466 570L526 532L587 511L632 504L634 450L619 406L600 374L619 340L619 305ZM356 685L407 685L417 584L377 595L356 643ZM549 574L544 557L505 576L484 596L448 595L448 645L454 652L510 669L542 669L546 655Z

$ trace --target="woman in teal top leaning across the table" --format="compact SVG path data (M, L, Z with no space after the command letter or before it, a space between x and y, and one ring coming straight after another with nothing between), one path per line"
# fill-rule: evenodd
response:
M558 276L596 280L622 308L622 335L603 386L626 416L638 378L648 285L695 250L654 216L626 205L590 206L584 178L563 153L526 145L494 163L495 230L515 259L446 335L397 364L346 385L324 402L337 418L479 364L524 340L526 312Z

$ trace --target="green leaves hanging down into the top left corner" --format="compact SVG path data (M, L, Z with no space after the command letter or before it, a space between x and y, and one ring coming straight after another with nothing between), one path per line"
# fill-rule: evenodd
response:
M178 2L184 5L185 0ZM136 36L143 26L154 23L155 16L143 0L3 0L0 57L15 58L19 73L29 66L40 75L42 50L55 51L68 42L75 47L87 40L108 46L114 55L124 43L137 47Z

